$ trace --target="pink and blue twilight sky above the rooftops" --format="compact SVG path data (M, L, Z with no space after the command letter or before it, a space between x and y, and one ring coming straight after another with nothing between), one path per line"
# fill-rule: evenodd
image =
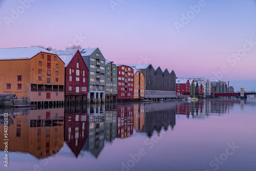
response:
M98 47L114 63L256 87L256 0L0 0L0 48Z

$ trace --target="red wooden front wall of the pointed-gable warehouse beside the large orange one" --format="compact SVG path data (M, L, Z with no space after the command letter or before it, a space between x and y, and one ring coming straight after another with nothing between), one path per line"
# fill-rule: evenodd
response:
M77 60L79 59L79 60ZM77 62L79 63L79 68L77 68ZM70 75L71 69L71 75ZM74 73L72 73L72 69L74 69ZM76 75L76 70L79 70L79 76ZM82 73L81 73L82 71ZM84 71L84 76L83 76ZM69 80L69 77L72 76L72 81ZM79 77L79 81L76 81L76 77ZM85 78L85 82L83 82L83 78ZM88 94L88 68L86 63L84 62L79 51L73 56L71 61L66 67L66 94ZM72 90L69 90L69 87L72 87ZM76 87L79 87L79 93L76 92ZM82 91L82 87L86 87L86 91Z

